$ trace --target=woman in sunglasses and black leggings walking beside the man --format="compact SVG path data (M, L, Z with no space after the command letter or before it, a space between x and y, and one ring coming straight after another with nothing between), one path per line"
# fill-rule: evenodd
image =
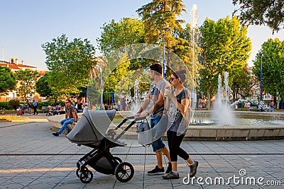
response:
M165 174L165 179L180 178L178 173L178 156L185 159L190 165L190 177L195 176L198 161L193 161L191 157L180 148L183 137L187 131L187 125L190 122L190 91L183 86L185 81L185 70L176 71L170 77L170 83L175 89L173 91L165 90L166 106L169 108L169 125L168 125L168 146L170 149L170 160L172 171Z

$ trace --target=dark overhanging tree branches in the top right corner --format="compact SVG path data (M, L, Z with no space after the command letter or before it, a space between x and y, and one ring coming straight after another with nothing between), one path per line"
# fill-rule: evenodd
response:
M283 0L233 0L238 6L234 14L239 13L241 23L247 25L268 25L274 31L284 28Z

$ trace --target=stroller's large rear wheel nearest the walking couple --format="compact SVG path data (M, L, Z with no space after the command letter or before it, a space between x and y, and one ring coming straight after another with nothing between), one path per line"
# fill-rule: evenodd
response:
M121 181L121 183L126 183L131 180L134 175L134 168L128 162L123 162L116 166L114 174L117 180Z

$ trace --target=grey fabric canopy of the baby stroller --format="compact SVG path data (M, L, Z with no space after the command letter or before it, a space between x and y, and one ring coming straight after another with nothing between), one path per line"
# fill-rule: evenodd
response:
M77 144L99 145L115 114L116 110L86 110L66 137Z

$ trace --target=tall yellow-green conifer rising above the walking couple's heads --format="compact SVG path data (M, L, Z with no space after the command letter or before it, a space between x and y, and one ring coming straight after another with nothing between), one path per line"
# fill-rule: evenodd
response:
M197 55L200 48L192 39L192 30L190 24L186 28L182 28L185 21L178 19L182 13L185 13L185 5L181 0L155 0L148 3L137 10L142 21L147 28L145 33L145 41L162 46L163 38L165 39L165 48L182 59L190 70L190 74L198 76L198 70L202 67L198 62ZM195 33L196 34L196 33ZM195 45L195 55L193 55L193 45ZM161 52L162 55L162 52ZM177 64L171 59L168 51L165 52L165 60L168 67L175 67ZM195 70L193 70L193 67Z

